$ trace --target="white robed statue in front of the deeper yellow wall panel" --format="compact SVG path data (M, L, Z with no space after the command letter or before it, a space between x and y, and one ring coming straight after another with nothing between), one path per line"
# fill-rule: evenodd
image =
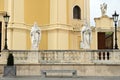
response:
M31 32L31 42L32 42L32 50L38 50L39 43L41 40L41 30L38 27L37 23L34 23Z

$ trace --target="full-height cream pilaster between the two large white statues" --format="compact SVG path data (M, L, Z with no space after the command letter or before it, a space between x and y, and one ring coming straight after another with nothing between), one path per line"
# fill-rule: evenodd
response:
M66 24L67 19L66 2L50 0L50 24L59 28L48 31L48 49L68 49L68 31L62 29L62 24Z

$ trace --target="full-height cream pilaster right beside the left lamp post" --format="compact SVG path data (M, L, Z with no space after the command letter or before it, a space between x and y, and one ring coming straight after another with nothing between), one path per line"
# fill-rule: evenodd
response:
M8 24L8 48L26 49L26 31L24 27L24 0L5 0L5 11L10 15ZM4 35L3 35L4 36ZM22 42L21 46L20 45Z

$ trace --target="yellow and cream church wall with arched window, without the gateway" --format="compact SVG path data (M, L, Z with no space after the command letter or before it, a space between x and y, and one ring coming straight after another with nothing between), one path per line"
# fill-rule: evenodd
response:
M80 8L80 19L73 19L75 6ZM0 0L2 49L5 12L10 15L10 50L31 49L30 30L34 22L42 30L40 50L68 50L80 49L80 29L84 21L90 22L89 10L89 0Z

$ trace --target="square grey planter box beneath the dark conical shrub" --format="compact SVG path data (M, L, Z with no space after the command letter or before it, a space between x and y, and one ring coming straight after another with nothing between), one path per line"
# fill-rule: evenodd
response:
M16 76L16 66L4 66L3 77L15 77Z

